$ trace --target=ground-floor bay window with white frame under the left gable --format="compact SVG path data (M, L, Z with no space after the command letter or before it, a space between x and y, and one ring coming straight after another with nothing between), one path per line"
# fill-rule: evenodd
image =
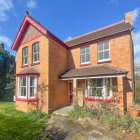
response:
M37 76L20 76L18 84L19 98L35 98L37 93Z

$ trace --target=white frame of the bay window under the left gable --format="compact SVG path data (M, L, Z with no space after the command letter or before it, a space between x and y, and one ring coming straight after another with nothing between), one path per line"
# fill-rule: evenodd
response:
M37 81L38 81L38 76L35 75L30 75L30 76L25 76L26 77L26 96L19 96L19 83L20 83L20 77L18 77L18 94L17 97L18 98L24 98L24 99L31 99L31 98L36 98L37 97ZM30 96L30 77L35 77L35 86L34 86L34 96Z

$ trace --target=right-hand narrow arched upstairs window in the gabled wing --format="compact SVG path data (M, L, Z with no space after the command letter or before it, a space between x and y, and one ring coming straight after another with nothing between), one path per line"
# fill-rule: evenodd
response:
M33 44L33 63L39 62L39 43Z

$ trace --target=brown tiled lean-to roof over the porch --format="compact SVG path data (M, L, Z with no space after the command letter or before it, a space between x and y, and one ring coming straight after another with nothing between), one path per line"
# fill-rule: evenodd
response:
M71 69L62 76L61 79L78 78L78 77L98 77L98 76L110 76L110 75L122 75L127 74L127 71L114 67L108 64L99 64L90 67L83 67L77 69Z

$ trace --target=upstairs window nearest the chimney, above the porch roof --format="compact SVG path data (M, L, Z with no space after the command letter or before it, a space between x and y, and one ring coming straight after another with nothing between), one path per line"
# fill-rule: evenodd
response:
M98 44L98 61L110 60L109 41Z

